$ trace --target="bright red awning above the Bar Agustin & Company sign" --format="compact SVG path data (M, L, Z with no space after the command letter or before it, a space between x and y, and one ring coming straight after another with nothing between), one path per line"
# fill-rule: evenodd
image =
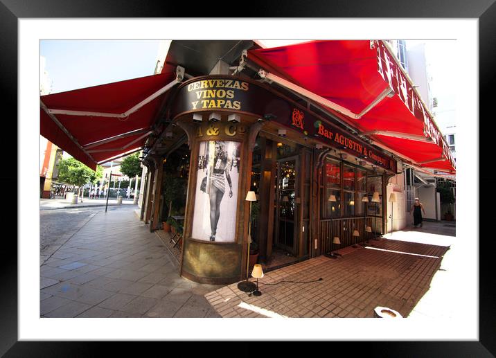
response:
M418 167L455 172L448 144L384 42L305 42L251 50L248 58L275 75L269 80L302 87L378 146Z

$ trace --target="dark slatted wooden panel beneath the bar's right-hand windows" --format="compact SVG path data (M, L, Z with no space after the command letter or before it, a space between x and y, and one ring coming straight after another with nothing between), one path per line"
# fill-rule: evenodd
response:
M373 238L373 233L365 231L366 226L372 226L373 217L344 217L339 219L320 220L320 241L322 253L328 253L343 247L364 242ZM354 237L357 230L360 236ZM333 244L333 238L339 238L341 244Z

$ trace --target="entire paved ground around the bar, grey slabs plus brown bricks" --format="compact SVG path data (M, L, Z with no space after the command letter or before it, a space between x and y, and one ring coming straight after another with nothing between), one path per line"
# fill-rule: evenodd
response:
M415 307L413 313L425 316L416 305L449 244L426 244L420 231L403 233L407 241L401 241L395 232L389 239L396 240L348 247L337 259L320 256L270 271L256 297L236 283L181 278L176 260L136 218L135 207L98 213L40 267L42 317L372 317L377 306L403 316Z

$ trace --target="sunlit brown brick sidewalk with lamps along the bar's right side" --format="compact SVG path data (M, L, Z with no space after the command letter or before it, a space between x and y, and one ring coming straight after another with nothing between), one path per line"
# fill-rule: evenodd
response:
M443 290L432 290L436 305L423 298L431 292L432 278L456 239L451 236L454 229L440 225L433 223L430 228L436 234L424 224L420 230L370 240L368 247L346 247L337 251L342 256L336 259L319 256L270 271L259 280L262 296L242 292L234 283L205 297L222 317L361 318L373 317L378 306L403 317L440 316L445 306L439 298L447 298Z

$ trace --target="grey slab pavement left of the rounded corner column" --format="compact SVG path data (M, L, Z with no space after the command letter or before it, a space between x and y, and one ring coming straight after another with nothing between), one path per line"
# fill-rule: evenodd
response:
M134 214L100 212L40 267L42 317L219 317Z

